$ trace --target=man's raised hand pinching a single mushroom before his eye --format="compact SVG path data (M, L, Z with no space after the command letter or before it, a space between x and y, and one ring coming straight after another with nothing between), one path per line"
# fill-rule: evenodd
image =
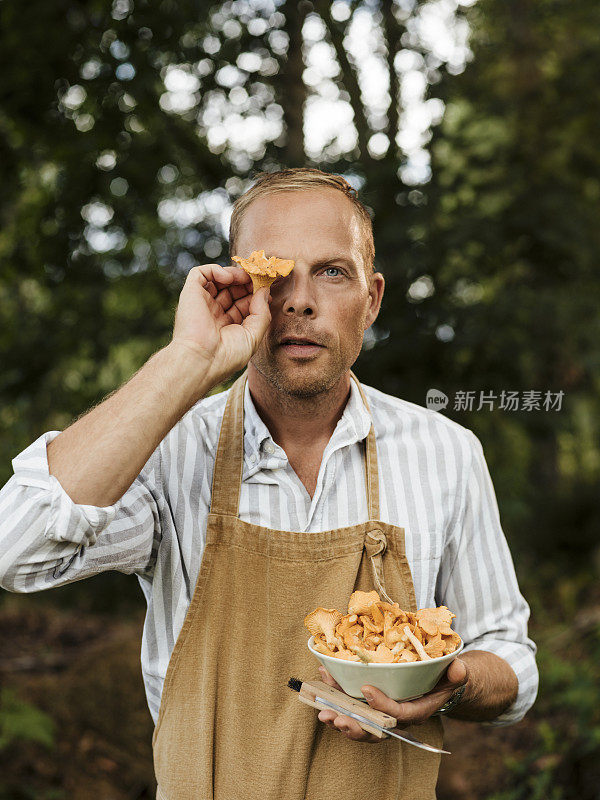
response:
M269 289L253 295L241 267L193 267L179 296L173 343L196 352L218 383L245 367L271 321Z

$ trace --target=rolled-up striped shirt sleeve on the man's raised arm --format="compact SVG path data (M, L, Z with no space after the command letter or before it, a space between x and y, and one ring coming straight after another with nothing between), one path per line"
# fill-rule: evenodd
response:
M74 503L48 468L48 431L0 490L0 586L37 592L107 570L150 577L161 538L160 449L111 506Z

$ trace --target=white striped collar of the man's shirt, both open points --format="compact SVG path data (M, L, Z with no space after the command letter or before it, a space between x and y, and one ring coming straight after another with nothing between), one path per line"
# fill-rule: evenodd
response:
M356 381L351 378L350 396L326 450L331 452L340 447L362 441L369 433L370 427L371 415L363 403ZM244 387L244 460L248 469L254 471L268 466L268 458L264 453L265 445L274 446L276 452L281 451L281 448L274 443L269 429L256 410L248 387L248 381L246 381ZM273 453L271 453L271 461L273 459L276 461L281 460L280 457L273 456ZM280 464L277 464L277 466L280 466Z

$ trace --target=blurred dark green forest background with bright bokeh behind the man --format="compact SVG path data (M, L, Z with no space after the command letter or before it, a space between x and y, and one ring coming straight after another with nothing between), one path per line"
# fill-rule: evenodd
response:
M169 341L256 171L344 174L386 277L356 372L482 440L539 647L522 723L448 722L441 800L600 797L599 73L596 0L0 3L0 485ZM0 800L154 797L144 605L2 592Z

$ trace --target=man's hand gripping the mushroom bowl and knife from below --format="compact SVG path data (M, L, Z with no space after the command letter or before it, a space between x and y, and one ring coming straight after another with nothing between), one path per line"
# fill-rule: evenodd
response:
M324 683L333 686L334 689L343 691L342 687L331 677L325 667L319 667L319 672L321 673ZM399 728L406 728L409 725L418 725L429 719L432 714L435 714L436 711L448 702L459 686L467 683L467 680L467 664L460 658L455 658L446 670L445 675L440 678L434 688L417 700L397 702L385 695L380 689L376 689L369 684L365 684L360 688L371 708L376 708L378 711L391 714L392 717L396 717L398 720ZM385 741L385 738L387 738L380 739L372 733L367 733L367 731L364 731L360 727L356 720L329 709L319 711L319 719L326 725L337 728L344 733L348 739L352 739L356 742L375 743Z

